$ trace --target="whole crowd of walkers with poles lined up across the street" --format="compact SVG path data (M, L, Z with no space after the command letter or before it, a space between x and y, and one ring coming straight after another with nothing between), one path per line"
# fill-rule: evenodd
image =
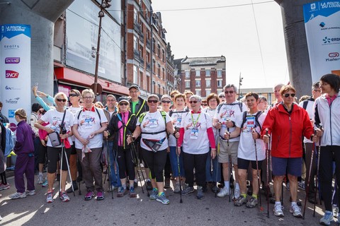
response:
M335 206L339 212L340 201L339 88L339 76L324 75L312 85L312 95L297 104L295 88L279 84L273 88L276 102L268 106L266 97L252 92L237 100L233 84L206 100L177 90L143 100L140 88L132 85L129 97L116 100L107 95L106 105L94 103L91 89L52 98L35 87L38 103L32 105L30 123L24 109L15 112L17 191L9 198L34 195L38 172L38 184L47 186L47 203L54 201L56 178L61 201L70 201L67 194L80 189L81 181L86 186L84 200L96 196L101 201L106 173L108 191L117 189L118 197L135 198L138 177L150 199L169 204L164 189L171 188L172 177L175 194L196 191L196 198L202 199L211 186L215 196L229 196L234 206L254 208L261 203L261 189L269 198L272 182L273 213L283 217L284 182L290 191L289 212L297 218L302 217L297 189L306 189L306 200L317 203L319 188L325 209L320 223L330 225L334 216L340 221L339 213L333 213ZM55 107L46 105L42 97ZM4 179L1 174L0 190L9 188Z

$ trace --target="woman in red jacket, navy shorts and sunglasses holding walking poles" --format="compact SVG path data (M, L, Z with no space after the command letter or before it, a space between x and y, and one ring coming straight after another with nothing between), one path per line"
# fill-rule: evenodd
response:
M290 196L292 204L290 213L301 218L301 210L297 206L297 177L302 170L302 137L312 138L313 127L308 113L294 103L295 88L292 85L283 85L280 95L283 101L269 109L263 122L262 136L265 143L271 136L271 156L273 165L275 207L274 215L283 217L283 208L280 203L280 194L283 178L288 172L290 182ZM266 130L268 129L268 135ZM314 139L316 139L315 137Z

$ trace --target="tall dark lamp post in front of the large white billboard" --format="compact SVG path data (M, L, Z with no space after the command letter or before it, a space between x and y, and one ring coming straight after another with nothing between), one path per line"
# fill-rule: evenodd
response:
M101 93L101 87L98 88L98 65L99 65L99 49L101 47L101 19L105 16L104 10L106 8L109 8L111 6L111 1L112 0L101 0L101 11L98 13L98 18L99 18L99 28L98 28L98 41L97 41L97 49L96 49L96 55L92 55L92 57L96 57L96 68L94 71L94 95L98 95ZM95 50L94 47L92 47L92 50Z

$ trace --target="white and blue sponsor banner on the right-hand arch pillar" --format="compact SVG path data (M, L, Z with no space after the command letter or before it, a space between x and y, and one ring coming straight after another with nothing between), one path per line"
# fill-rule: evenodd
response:
M340 1L303 6L312 82L340 70Z

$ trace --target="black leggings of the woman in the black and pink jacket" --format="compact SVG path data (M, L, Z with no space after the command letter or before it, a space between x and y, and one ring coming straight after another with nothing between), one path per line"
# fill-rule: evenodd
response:
M119 177L124 179L126 175L130 180L135 179L135 163L132 162L132 150L131 148L123 149L118 147L117 162L119 167Z

